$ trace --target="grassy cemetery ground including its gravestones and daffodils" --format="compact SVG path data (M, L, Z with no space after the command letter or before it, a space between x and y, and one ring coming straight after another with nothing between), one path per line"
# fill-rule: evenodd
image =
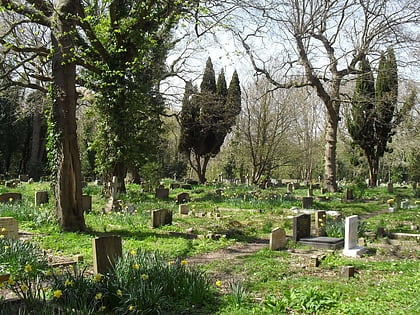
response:
M287 185L260 189L214 183L193 185L186 193L182 185L172 182L164 180L157 188L176 187L166 188L164 199L157 190L147 192L129 184L127 194L111 194L109 199L119 205L111 210L106 209L109 199L101 196L102 186L90 182L84 188L84 195L90 197L85 212L89 230L66 234L54 223L52 198L40 199L48 192L48 184L21 183L13 191L0 187L0 197L21 194L18 201L0 203L2 307L11 310L19 305L17 301L35 307L40 299L65 309L58 302L64 303L62 297L71 294L69 284L85 279L92 283L91 290L100 292L93 295L94 303L83 299L78 303L106 313L107 307L113 307L110 282L120 283L115 290L121 292L121 285L138 290L131 286L152 279L164 266L179 264L186 277L189 273L203 275L197 279L202 291L195 294L201 294L206 303L213 301L212 306L204 306L195 300L194 307L200 309L197 314L230 314L235 309L243 313L306 312L298 303L305 303L314 294L314 303L323 314L347 313L355 308L362 313L373 306L370 295L378 294L383 298L376 297L375 303L389 313L398 313L397 307L407 313L419 310L415 296L420 279L420 205L409 187L394 186L392 194L386 186L369 189L351 203L346 200L345 189L326 194L313 189L312 209L304 209L302 200L308 189L303 185L290 193ZM325 196L325 201L316 201L317 196ZM390 212L390 199L403 200L403 207L400 203ZM397 206L395 202L393 206ZM40 257L37 260L31 252L30 259L24 256L11 262L6 258L9 247L23 247L11 242L31 244L30 250ZM42 288L38 288L49 292L43 298L36 285L28 283L36 282L31 274L36 270L55 275L45 276ZM121 275L124 270L131 276ZM123 279L132 279L117 279L117 272ZM166 272L171 277L171 271ZM372 283L377 285L372 287ZM359 290L366 295L359 296ZM103 294L101 299L95 300L99 293ZM186 301L194 298L191 292L183 296ZM124 295L117 297L123 300ZM355 304L356 297L359 302ZM235 305L230 302L233 299ZM66 303L74 307L68 300ZM129 300L124 303L149 305ZM195 314L192 305L180 308ZM309 309L318 312L315 306ZM180 309L174 314L177 312Z

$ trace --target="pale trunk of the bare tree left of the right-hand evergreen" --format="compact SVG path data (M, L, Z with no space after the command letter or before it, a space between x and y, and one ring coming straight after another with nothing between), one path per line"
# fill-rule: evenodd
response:
M338 111L327 111L327 126L325 133L325 187L330 192L337 191L336 150Z

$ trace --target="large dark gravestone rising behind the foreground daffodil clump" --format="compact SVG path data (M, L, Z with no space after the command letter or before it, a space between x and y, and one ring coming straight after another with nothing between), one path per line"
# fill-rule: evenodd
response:
M111 271L118 258L122 257L122 243L119 236L95 237L92 240L93 272L106 274Z

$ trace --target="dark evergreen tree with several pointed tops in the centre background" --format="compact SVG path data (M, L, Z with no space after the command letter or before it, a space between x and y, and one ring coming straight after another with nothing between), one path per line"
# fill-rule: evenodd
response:
M206 62L200 88L200 92L194 91L191 83L187 83L185 87L179 150L187 155L199 181L204 183L208 162L220 152L220 147L240 112L241 99L236 71L229 88L223 71L216 84L210 58Z

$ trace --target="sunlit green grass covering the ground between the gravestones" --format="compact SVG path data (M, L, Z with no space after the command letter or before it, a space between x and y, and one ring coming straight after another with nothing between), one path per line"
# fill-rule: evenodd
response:
M221 195L216 193L218 188L223 189ZM130 184L127 189L126 195L119 196L123 210L103 214L106 200L100 195L101 188L95 185L84 188L84 193L93 197L93 211L85 215L89 228L85 233L63 233L59 230L54 219L53 198L50 197L46 205L34 206L36 190L51 193L48 183L25 184L13 189L22 193L23 200L0 204L0 216L15 217L21 230L34 234L32 243L50 253L65 257L82 254L84 262L80 267L83 269L90 268L93 263L92 238L101 235L121 236L126 253L139 248L159 250L164 259L174 261L188 261L190 256L237 242L268 239L269 233L276 227L284 228L291 235L293 214L290 209L300 207L299 198L307 193L306 188L288 196L285 187L260 190L246 186L198 186L188 191L190 207L196 216L183 216L177 213L175 203L176 195L184 192L182 189L171 190L169 200L163 201L155 200L151 193L143 192L138 185ZM6 192L6 189L1 187L0 192ZM315 197L321 196L319 190L315 190L314 194ZM390 198L408 199L414 205L416 198L409 189L396 187L394 194L387 193L386 187L362 189L357 192L360 198L349 202L342 201L343 193L327 193L324 196L328 200L315 201L315 209L337 210L343 217L373 215L364 220L367 231L384 228L387 232L419 233L412 230L413 226L420 226L418 206L398 209L393 213L387 211L386 201ZM131 205L136 209L134 214L124 210ZM173 224L152 229L150 211L159 208L173 211ZM188 233L204 237L190 239ZM208 234L224 237L206 238ZM214 281L222 283L220 288L213 285L213 289L220 290L219 303L204 306L204 309L209 314L376 314L376 310L378 314L419 313L419 251L401 250L399 254L402 257L391 256L379 245L375 241L369 243L370 252L376 250L379 256L386 254L383 256L386 260L375 259L374 254L362 259L348 259L327 252L321 266L316 269L308 267L302 255L268 249L235 260L213 261L202 266L201 270ZM292 243L289 247L299 249L299 245ZM4 267L3 263L0 264ZM356 267L358 274L355 278L338 278L339 269L345 265ZM223 278L220 278L221 275ZM189 312L194 314L193 309Z

